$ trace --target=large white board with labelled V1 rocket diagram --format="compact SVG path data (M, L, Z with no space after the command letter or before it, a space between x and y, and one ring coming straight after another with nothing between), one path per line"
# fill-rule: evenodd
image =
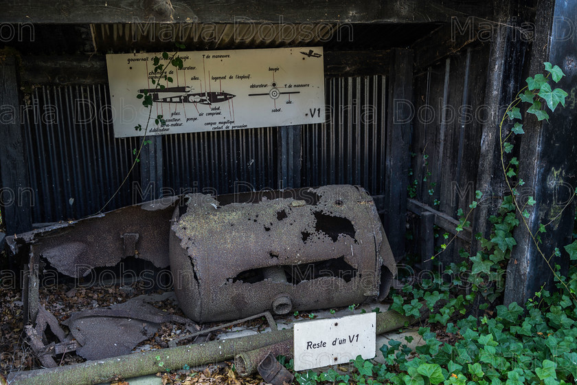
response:
M322 47L179 52L182 69L160 61L172 78L160 80L164 89L155 57L162 54L106 55L115 137L144 134L144 90L152 96L148 135L325 121ZM155 124L157 115L166 126Z

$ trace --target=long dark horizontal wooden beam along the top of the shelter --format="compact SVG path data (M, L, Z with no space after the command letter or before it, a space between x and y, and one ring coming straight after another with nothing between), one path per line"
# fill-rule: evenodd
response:
M490 17L488 1L63 0L3 1L1 23L438 23Z

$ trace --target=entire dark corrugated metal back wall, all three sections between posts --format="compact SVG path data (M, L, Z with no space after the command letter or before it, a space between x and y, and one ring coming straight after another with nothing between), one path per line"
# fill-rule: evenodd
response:
M327 122L303 126L302 186L360 184L384 192L387 81L326 80ZM130 170L136 137L115 139L106 85L38 87L23 112L33 222L98 212ZM278 188L278 128L162 136L163 192ZM137 203L139 164L105 211ZM240 182L240 184L239 184ZM144 190L144 186L140 186ZM134 197L133 197L134 195Z

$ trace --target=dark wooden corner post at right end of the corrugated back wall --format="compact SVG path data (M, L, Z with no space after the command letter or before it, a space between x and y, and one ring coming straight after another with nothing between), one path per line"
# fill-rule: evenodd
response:
M389 82L383 227L398 261L405 254L407 186L411 165L411 118L414 114L412 50L394 50Z

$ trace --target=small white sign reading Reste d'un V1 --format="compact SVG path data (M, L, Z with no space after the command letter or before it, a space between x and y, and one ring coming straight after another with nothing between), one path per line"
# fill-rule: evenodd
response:
M295 323L295 371L374 358L376 313Z

